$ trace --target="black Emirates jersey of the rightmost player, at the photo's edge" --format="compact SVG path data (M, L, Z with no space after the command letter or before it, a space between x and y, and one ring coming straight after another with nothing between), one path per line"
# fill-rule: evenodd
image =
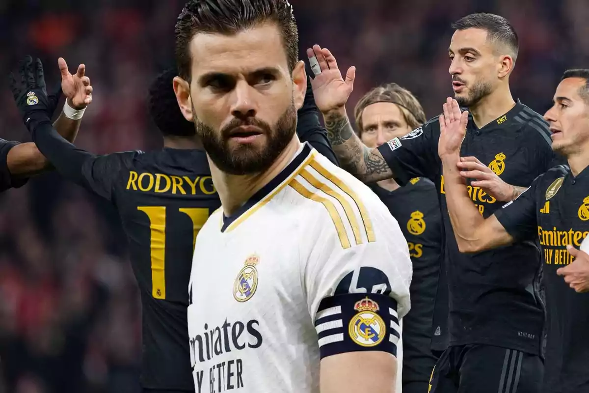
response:
M515 239L539 239L548 309L546 392L589 391L589 294L577 293L557 269L573 262L566 246L589 235L589 169L577 177L557 166L495 216Z

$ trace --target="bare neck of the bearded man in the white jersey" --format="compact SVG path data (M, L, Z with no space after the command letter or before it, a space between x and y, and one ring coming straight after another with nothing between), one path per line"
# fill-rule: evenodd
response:
M257 191L270 183L293 160L300 146L299 138L294 135L274 163L267 170L256 174L233 175L224 173L209 158L213 184L219 194L225 216L231 216Z

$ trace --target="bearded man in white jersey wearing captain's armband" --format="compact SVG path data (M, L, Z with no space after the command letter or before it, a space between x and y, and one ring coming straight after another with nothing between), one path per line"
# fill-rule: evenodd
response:
M378 197L295 134L307 78L290 4L190 1L176 57L222 204L188 287L196 391L399 391L408 247Z

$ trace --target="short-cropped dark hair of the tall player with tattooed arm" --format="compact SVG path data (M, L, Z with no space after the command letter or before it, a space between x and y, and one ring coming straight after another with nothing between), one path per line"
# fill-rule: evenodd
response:
M487 31L487 39L505 45L515 61L519 50L519 39L514 27L503 16L480 12L470 14L452 24L455 30L481 29Z

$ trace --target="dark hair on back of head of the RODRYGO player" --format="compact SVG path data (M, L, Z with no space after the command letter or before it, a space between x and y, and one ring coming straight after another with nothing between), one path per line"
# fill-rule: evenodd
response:
M164 136L192 137L196 134L194 124L184 118L174 94L172 81L176 76L176 68L170 68L151 83L149 114Z

